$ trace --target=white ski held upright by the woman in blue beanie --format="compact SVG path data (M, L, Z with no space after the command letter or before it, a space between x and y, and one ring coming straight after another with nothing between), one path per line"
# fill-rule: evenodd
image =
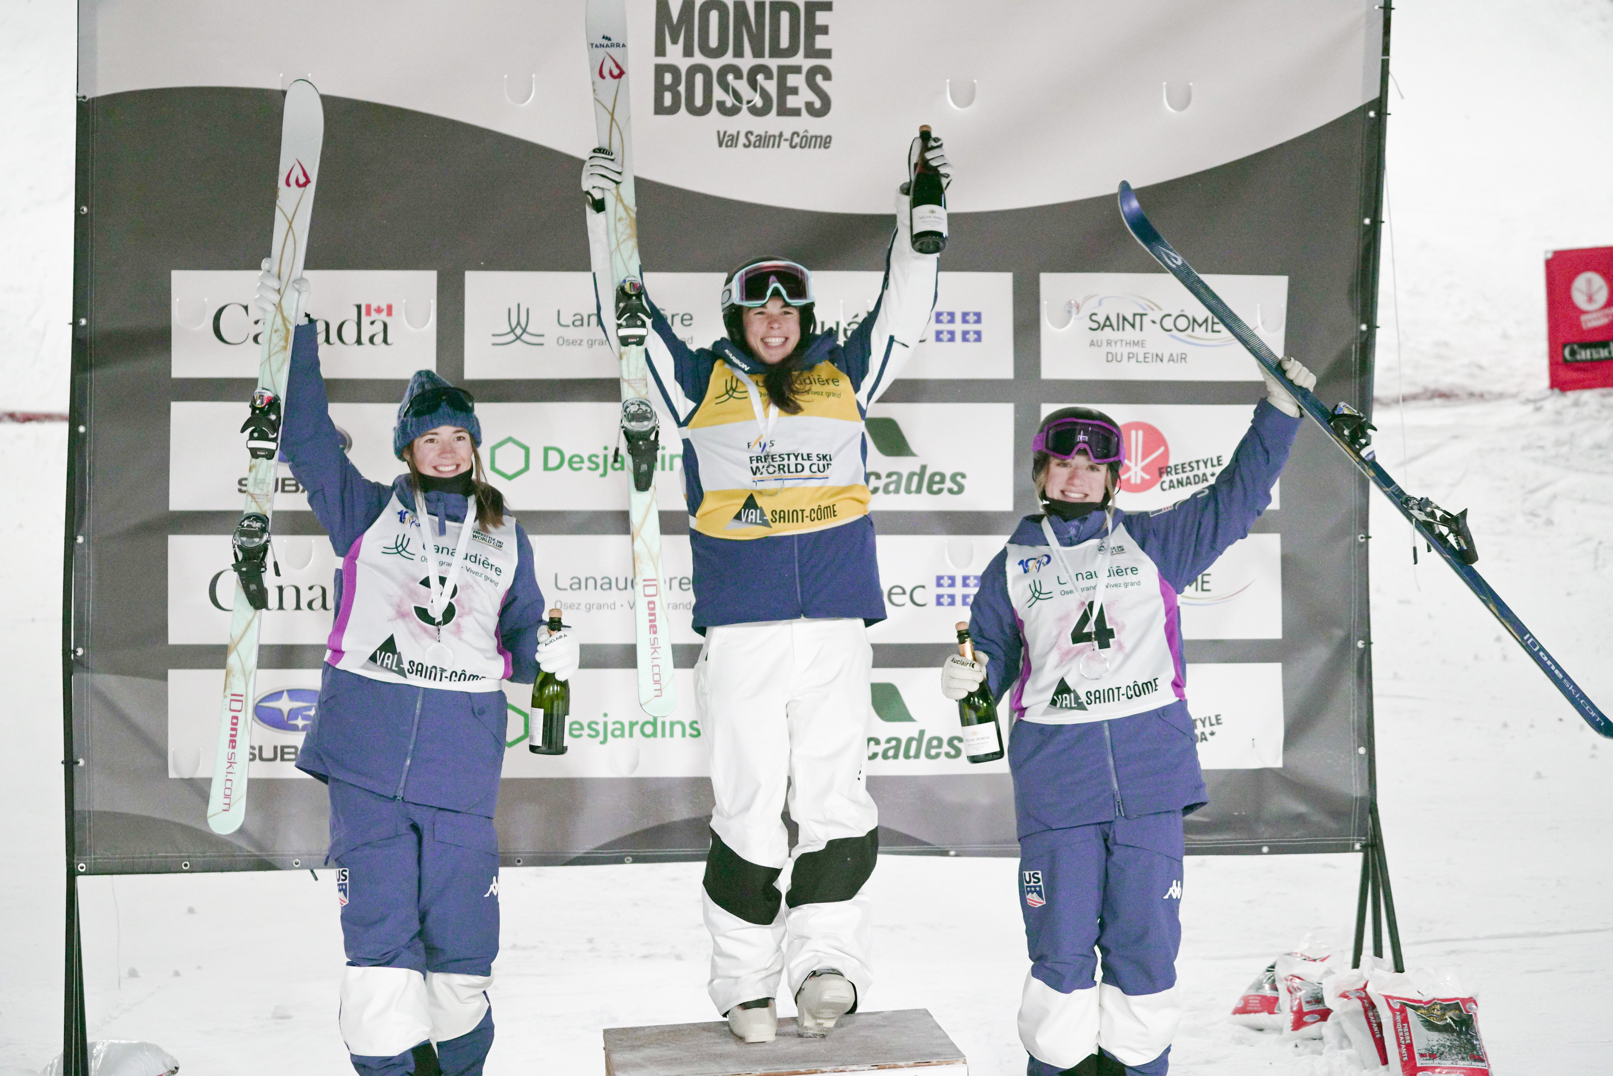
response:
M269 519L274 516L274 463L281 448L281 418L286 413L292 331L302 318L302 297L290 282L302 276L323 145L324 108L319 90L313 82L297 79L286 90L281 165L274 173L277 195L269 265L281 279L281 302L263 326L258 389L252 394L252 411L242 426L252 461L247 469L247 507L234 534L235 605L229 619L224 703L218 724L218 753L213 758L213 789L206 803L206 824L215 832L235 832L247 818L252 694L258 678L258 626L268 607L263 569L269 557Z

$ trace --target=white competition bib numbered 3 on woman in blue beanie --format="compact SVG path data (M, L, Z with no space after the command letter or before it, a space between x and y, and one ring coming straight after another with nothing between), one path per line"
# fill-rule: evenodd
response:
M342 605L324 655L329 665L394 684L500 689L511 671L498 640L498 611L519 555L515 516L505 513L503 524L492 531L471 531L458 578L452 569L444 574L444 568L455 561L460 524L450 523L447 531L436 534L429 516L423 531L416 515L392 494L381 518L342 560ZM424 547L427 532L431 550Z

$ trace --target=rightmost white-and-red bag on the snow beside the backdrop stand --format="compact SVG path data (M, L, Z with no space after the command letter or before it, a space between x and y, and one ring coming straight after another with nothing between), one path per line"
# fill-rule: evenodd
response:
M1479 1002L1453 970L1378 973L1366 992L1378 1005L1398 1076L1490 1076L1479 1037Z

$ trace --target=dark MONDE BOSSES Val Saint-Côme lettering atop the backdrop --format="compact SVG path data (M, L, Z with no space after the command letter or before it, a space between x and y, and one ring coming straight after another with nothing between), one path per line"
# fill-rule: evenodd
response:
M674 6L676 3L676 6ZM829 115L832 0L655 0L655 115L777 119ZM700 60L665 63L668 58ZM739 63L747 61L747 63ZM784 63L779 63L784 61ZM718 148L827 150L811 129L736 127Z

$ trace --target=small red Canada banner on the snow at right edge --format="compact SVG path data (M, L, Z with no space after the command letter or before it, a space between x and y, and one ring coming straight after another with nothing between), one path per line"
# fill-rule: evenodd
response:
M1545 255L1552 387L1613 387L1613 247Z

